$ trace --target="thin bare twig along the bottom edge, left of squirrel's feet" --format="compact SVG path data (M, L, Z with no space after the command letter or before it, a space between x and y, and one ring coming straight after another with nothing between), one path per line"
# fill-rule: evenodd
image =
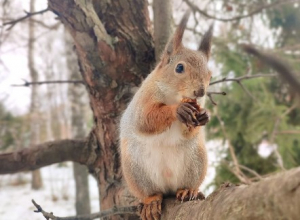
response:
M34 212L40 212L43 216L49 220L92 220L95 218L104 218L112 215L122 215L122 214L137 214L139 207L138 206L128 206L128 207L114 207L109 210L105 210L102 212L97 212L88 215L78 215L78 216L70 216L70 217L58 217L53 215L53 212L46 212L42 209L42 207L37 204L33 199L31 200L33 205L37 208Z

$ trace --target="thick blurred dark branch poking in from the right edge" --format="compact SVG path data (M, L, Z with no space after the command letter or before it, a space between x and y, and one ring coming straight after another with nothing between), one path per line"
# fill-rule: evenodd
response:
M272 55L264 54L251 45L242 45L242 47L247 53L256 56L264 63L269 65L271 68L276 70L280 74L280 76L288 84L290 84L293 90L300 95L300 81L296 74L293 73L292 70L285 63L283 63L283 61L279 60L278 58L275 58Z

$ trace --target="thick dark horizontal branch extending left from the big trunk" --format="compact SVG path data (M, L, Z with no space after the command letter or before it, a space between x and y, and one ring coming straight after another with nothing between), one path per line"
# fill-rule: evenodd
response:
M86 142L86 140L51 141L0 154L0 174L35 170L63 161L86 163L90 154L85 148Z

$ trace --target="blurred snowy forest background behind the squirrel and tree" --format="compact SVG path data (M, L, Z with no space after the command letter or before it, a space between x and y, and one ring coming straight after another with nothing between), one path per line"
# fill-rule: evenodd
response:
M93 126L93 116L85 87L80 82L72 39L64 26L51 11L9 23L23 17L24 10L32 13L46 9L47 1L0 2L0 152L45 141L86 137ZM211 81L217 82L211 85L210 91L227 95L213 95L217 105L207 98L211 121L206 127L210 160L209 177L203 188L206 194L225 181L249 183L300 166L299 96L273 70L243 52L240 46L256 45L284 60L299 75L299 4L295 0L170 1L173 13L170 30L186 9L192 8L185 46L195 49L208 26L213 22L215 26L210 67ZM152 6L153 2L149 1L151 19ZM56 207L55 201L60 199L75 202L76 188L76 213L89 213L90 206L83 207L90 204L86 167L72 168L70 163L61 163L52 169L47 179L39 170L33 172L32 178L29 173L0 176L0 219L8 219L2 216L13 210L1 204L10 199L10 193L4 193L6 190L32 187L42 192L49 185L49 178L53 178L52 196L46 199L53 202L47 203L47 209L52 209L50 204ZM58 169L63 169L62 176L69 179L73 178L70 173L75 173L75 185L64 179L69 184L67 188L74 187L72 198L55 194L53 184ZM80 190L85 191L80 194ZM97 189L91 191L98 193ZM84 204L79 204L80 201ZM25 202L25 208L32 209L30 201ZM97 211L97 204L93 211ZM75 214L75 206L63 214ZM33 219L32 216L28 219Z

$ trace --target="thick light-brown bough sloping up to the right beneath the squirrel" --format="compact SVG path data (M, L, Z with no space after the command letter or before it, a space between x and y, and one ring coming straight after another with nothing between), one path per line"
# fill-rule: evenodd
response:
M300 216L300 168L251 185L224 184L205 201L164 202L162 220L296 220Z

